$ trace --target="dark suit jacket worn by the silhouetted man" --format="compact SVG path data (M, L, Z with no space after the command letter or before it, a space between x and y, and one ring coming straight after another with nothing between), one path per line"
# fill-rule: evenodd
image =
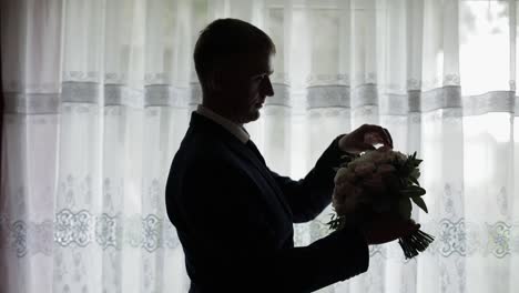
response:
M294 247L293 223L313 220L330 202L333 168L344 154L337 140L293 181L193 112L166 185L190 292L311 292L367 270L367 244L355 229Z

